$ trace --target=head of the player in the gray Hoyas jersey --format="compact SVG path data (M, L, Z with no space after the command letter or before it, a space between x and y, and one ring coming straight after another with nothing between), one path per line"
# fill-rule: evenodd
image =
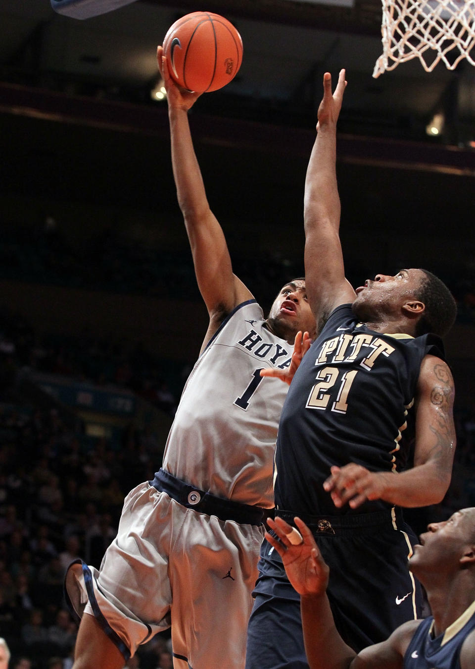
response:
M293 279L283 286L271 306L267 324L274 334L289 343L299 330L309 332L315 339L315 316L307 300L305 278Z

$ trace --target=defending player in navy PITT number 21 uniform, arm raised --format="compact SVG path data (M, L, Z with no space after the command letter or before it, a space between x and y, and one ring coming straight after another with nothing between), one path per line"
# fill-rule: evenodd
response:
M440 335L456 306L426 270L377 274L356 291L345 279L335 174L345 85L342 70L333 95L325 74L307 169L305 275L319 335L281 413L275 505L311 528L331 568L335 624L359 650L420 613L420 585L406 569L416 537L401 507L440 502L450 483L454 387ZM247 644L247 669L307 667L299 595L267 542Z

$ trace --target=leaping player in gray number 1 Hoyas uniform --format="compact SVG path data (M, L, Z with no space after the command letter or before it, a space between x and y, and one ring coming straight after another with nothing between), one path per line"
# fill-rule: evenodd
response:
M158 66L168 92L178 203L210 322L162 468L127 496L100 570L75 561L67 572L67 597L81 618L73 669L122 669L170 624L176 669L244 667L288 387L261 371L277 369L290 383L315 335L305 280L287 283L265 319L234 276L188 125L198 94L170 80L161 47Z

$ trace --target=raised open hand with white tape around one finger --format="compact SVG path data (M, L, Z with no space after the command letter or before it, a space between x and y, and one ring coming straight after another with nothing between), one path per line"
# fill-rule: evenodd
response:
M294 589L300 595L323 595L327 590L329 567L321 557L312 533L300 518L294 518L302 535L302 543L297 545L288 539L291 525L277 516L275 520L267 518L269 527L278 539L265 533L265 539L274 547L282 558L285 571Z

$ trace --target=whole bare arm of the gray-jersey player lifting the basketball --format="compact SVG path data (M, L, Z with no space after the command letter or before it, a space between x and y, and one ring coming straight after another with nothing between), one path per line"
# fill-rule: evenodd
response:
M167 90L172 167L178 204L190 240L198 287L216 329L223 315L252 295L232 273L226 240L208 204L194 153L188 110L199 94L176 86L170 78L166 58L160 46L157 60ZM210 334L212 332L208 331L208 336Z

